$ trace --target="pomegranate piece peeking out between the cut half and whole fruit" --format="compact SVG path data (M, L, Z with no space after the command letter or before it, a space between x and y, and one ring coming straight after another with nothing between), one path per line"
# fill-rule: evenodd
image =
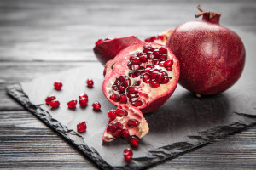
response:
M155 42L160 43L162 45L166 45L166 42L168 41L169 37L172 35L173 29L161 32L157 36L148 37L145 39L145 42Z

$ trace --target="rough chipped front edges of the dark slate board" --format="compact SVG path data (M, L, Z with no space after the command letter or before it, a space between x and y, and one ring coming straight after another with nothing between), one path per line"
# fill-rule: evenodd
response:
M63 137L64 139L67 139L67 141L70 142L71 144L74 144L77 148L79 148L79 150L81 150L84 153L85 156L90 158L90 160L93 161L98 167L100 167L101 169L107 169L107 170L108 169L145 169L148 167L152 167L154 165L160 164L161 162L164 162L172 158L175 158L177 156L181 156L185 153L188 153L189 151L201 148L202 146L206 144L210 144L216 141L217 139L224 139L225 136L230 135L232 133L241 132L245 128L256 124L256 116L235 112L235 114L239 116L246 116L250 119L253 119L254 122L251 122L250 124L247 124L247 125L237 122L236 124L232 125L233 129L231 129L231 131L224 132L219 135L215 135L215 137L205 135L205 134L209 134L207 131L216 132L216 130L217 131L219 129L224 130L226 128L226 127L215 127L214 129L209 129L205 132L201 132L201 136L188 136L188 138L191 139L191 141L193 139L196 139L198 141L201 140L200 143L198 143L198 141L197 141L197 144L190 144L188 142L178 142L172 145L160 147L158 150L149 151L150 152L149 157L144 157L144 158L142 157L142 158L133 160L133 161L140 161L140 160L143 161L143 159L150 160L148 164L146 164L144 167L136 167L136 163L132 163L132 161L131 163L127 163L125 167L113 167L109 165L106 161L104 161L95 149L90 148L86 144L76 144L72 139L68 138L69 135L75 135L76 137L83 139L83 137L80 136L78 133L74 132L73 130L68 130L67 127L63 127L60 122L58 122L57 120L55 120L50 116L48 111L44 111L42 108L40 108L40 105L33 105L30 102L26 93L22 90L20 83L9 85L7 86L6 90L7 90L7 93L13 99L18 101L21 105L23 105L26 108L26 110L32 112L33 115L37 116L48 127L53 129L55 132L60 133L61 137ZM48 116L48 118L46 118L46 116ZM169 153L166 153L165 152L166 150L169 151ZM174 151L174 150L177 150L177 151Z

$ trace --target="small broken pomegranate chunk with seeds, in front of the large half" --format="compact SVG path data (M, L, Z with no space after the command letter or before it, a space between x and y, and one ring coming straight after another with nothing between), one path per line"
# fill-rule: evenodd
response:
M131 105L120 104L116 110L108 111L115 114L108 116L109 122L102 136L102 140L110 142L113 139L122 137L128 139L129 136L137 136L141 139L148 133L148 123L143 117L142 111Z

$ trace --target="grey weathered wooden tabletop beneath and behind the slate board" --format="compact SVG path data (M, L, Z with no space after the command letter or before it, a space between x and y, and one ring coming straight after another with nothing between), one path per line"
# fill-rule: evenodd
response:
M5 92L47 72L96 64L102 37L150 37L195 20L197 4L222 13L221 24L247 46L256 34L256 1L1 0L0 168L96 169L73 145ZM250 36L252 35L252 36ZM255 42L254 42L255 44ZM255 50L254 50L255 52ZM253 57L253 56L250 56ZM93 72L92 72L93 74ZM150 169L255 169L256 126Z

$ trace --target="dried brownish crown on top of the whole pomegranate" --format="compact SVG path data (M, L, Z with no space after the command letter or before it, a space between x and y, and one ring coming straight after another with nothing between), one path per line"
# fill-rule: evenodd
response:
M200 7L200 5L198 5L197 8L201 11L201 13L195 14L195 18L198 18L201 15L203 15L202 20L206 20L206 21L210 21L212 23L217 23L218 24L221 14L218 14L218 13L215 13L215 12L212 12L212 11L207 12L207 11L203 10Z

